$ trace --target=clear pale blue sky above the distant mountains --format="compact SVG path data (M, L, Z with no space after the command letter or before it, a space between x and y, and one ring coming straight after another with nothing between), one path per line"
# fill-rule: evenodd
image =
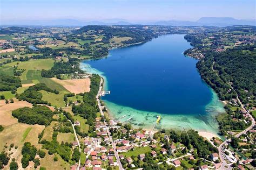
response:
M200 17L255 19L255 0L0 0L0 19L130 22L190 20Z

